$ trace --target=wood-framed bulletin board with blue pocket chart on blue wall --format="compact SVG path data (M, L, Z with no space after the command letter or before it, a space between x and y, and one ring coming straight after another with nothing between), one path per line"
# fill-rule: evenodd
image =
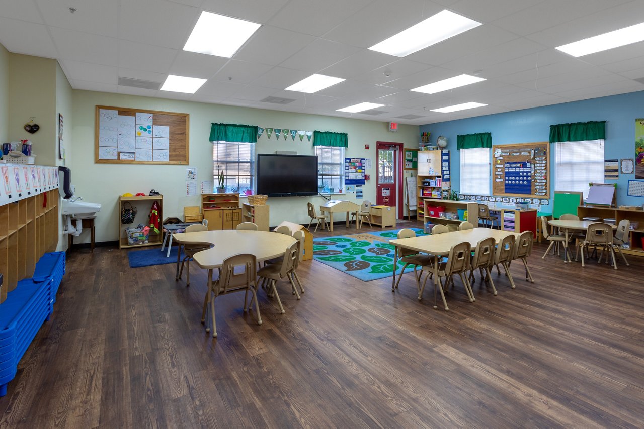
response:
M492 194L502 197L547 199L550 143L492 146Z

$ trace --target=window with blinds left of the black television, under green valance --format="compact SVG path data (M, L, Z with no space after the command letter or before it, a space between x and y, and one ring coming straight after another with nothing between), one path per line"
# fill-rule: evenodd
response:
M213 143L213 181L218 185L219 172L223 171L224 185L228 192L243 192L254 185L253 160L255 143L215 141Z

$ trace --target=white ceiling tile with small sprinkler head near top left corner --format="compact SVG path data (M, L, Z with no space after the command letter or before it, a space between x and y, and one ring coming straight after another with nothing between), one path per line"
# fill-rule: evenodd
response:
M45 24L78 32L118 37L117 1L84 0L82 3L71 4L64 0L36 0L36 3ZM77 9L73 14L70 12L70 6Z

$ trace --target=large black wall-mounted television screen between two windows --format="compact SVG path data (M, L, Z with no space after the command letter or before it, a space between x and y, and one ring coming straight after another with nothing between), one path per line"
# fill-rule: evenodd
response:
M257 154L257 193L269 197L317 195L317 156Z

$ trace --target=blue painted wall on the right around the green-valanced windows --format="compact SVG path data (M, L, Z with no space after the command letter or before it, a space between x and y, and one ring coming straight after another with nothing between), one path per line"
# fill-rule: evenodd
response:
M604 157L607 159L635 158L635 120L644 118L644 91L578 102L554 104L507 113L477 116L450 122L421 125L421 132L431 132L430 141L437 136L448 138L451 151L452 188L459 189L459 152L456 150L457 134L491 132L493 145L548 141L550 125L554 123L602 121L606 122ZM554 194L554 146L551 146L551 196ZM641 205L644 198L629 197L628 181L635 174L620 174L617 203ZM605 183L615 183L606 181ZM572 189L566 189L572 190ZM490 188L491 191L491 188Z

